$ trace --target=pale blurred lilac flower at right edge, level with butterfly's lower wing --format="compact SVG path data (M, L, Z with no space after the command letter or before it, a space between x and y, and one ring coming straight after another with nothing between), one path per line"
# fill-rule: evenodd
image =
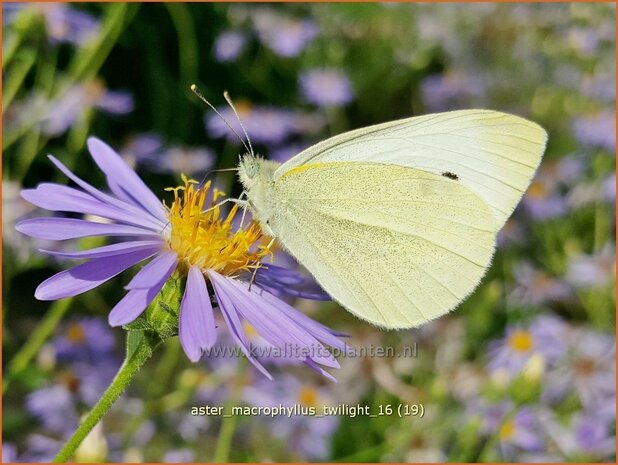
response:
M579 254L570 258L566 280L578 288L590 289L615 282L616 249L605 244L594 255Z

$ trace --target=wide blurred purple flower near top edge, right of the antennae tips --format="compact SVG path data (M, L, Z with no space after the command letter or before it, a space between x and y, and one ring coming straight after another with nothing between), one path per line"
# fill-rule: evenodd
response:
M318 34L311 20L292 19L266 9L253 14L253 26L266 47L286 58L298 55Z

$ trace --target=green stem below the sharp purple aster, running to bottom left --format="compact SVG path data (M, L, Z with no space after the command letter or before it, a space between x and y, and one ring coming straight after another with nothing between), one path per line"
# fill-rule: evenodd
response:
M131 333L129 337L132 336ZM136 341L131 350L127 351L127 357L112 383L90 413L88 413L86 419L79 425L60 452L58 452L58 455L54 458L54 463L67 462L73 456L75 450L88 436L88 433L101 421L114 402L131 383L142 365L151 357L154 348L161 342L157 335L146 331L140 333L139 337L140 339Z

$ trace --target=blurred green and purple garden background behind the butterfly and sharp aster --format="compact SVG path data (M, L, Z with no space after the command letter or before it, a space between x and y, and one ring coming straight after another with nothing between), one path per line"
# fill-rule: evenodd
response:
M459 309L386 332L333 303L297 301L356 347L338 383L276 360L191 364L166 342L81 461L613 461L615 456L615 7L613 4L3 3L3 461L47 461L120 366L107 326L128 279L56 303L33 297L66 266L20 236L40 215L22 187L95 185L96 135L162 197L180 174L233 167L239 141L189 91L285 160L345 130L481 107L549 132L543 164ZM232 174L213 176L231 195ZM130 275L128 273L127 275ZM224 329L221 325L221 331ZM226 341L224 333L220 338ZM196 405L417 405L424 416L192 416Z

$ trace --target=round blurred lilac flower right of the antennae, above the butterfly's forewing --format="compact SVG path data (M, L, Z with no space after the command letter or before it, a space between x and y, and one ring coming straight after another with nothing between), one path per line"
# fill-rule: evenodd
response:
M305 100L320 107L341 106L353 98L349 79L335 69L314 69L300 76Z

